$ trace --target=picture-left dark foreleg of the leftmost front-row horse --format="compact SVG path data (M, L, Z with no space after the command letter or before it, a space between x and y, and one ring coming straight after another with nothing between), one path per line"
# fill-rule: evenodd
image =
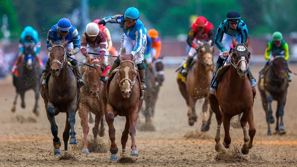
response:
M52 134L54 136L54 139L53 139L54 155L61 155L60 147L62 143L58 138L58 126L55 121L55 109L54 109L54 105L50 102L47 104L46 115L47 115L47 118L49 119L50 130L52 131Z

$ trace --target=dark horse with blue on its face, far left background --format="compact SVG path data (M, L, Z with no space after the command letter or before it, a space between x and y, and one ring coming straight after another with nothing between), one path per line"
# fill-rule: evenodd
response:
M13 102L12 112L15 112L15 105L18 98L18 95L21 96L21 107L25 108L25 92L33 89L35 93L35 105L33 113L39 115L38 111L38 99L39 99L39 90L40 84L39 79L41 77L41 70L39 62L35 61L36 55L32 45L29 45L24 48L24 60L21 62L19 67L19 76L13 75L13 85L16 89L15 100Z

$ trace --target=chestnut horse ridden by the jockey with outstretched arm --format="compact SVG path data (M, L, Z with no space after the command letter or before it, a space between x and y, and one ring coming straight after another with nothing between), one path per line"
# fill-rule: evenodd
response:
M137 79L137 70L134 64L134 60L123 60L121 57L120 66L118 71L115 72L113 78L111 78L109 86L108 99L103 98L105 104L105 119L108 124L108 132L111 141L110 145L110 161L117 161L118 146L115 143L115 129L114 129L114 117L117 115L126 117L126 125L122 134L122 156L126 155L126 143L128 140L128 134L130 134L131 153L130 155L138 155L136 150L136 121L139 110L142 105L140 100L140 81ZM102 91L102 97L105 96L105 91Z

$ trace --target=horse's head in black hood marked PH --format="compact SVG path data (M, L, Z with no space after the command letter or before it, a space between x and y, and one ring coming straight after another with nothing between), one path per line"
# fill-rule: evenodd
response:
M233 38L232 44L234 46L234 52L231 54L230 63L235 67L240 78L245 78L248 74L249 58L251 53L248 51L248 44L250 38L248 38L245 44L237 44Z

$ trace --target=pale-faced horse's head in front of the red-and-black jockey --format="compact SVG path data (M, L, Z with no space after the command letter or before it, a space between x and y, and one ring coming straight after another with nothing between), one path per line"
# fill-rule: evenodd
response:
M204 66L206 66L206 70L212 70L213 69L213 47L211 46L212 41L198 41L198 44L200 45L199 48L199 54L197 55L197 60L202 63Z

